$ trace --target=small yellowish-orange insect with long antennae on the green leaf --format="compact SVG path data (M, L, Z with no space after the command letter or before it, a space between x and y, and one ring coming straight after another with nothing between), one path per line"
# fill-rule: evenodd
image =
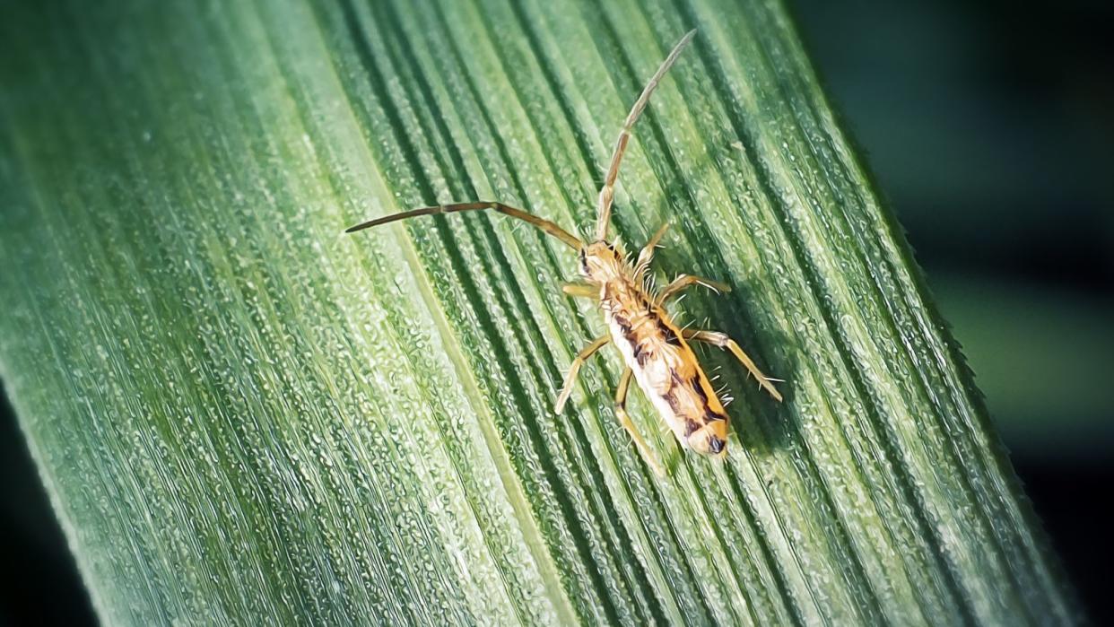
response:
M604 186L599 189L596 233L592 242L585 244L557 224L521 209L489 202L423 207L375 218L346 231L352 233L418 216L491 209L536 226L576 251L583 282L566 284L563 291L573 297L596 301L607 322L608 333L597 337L573 360L555 409L560 414L585 361L599 349L614 343L626 364L615 392L615 413L631 434L643 459L658 476L663 476L664 470L654 459L654 454L646 447L646 442L638 434L626 411L627 391L632 379L649 398L682 448L716 457L724 455L727 450L727 412L712 389L711 381L701 368L690 342L706 342L731 351L758 379L762 388L781 401L781 394L771 382L773 380L762 374L734 340L715 331L678 329L665 310L665 304L686 287L703 285L717 292L727 292L730 290L727 285L682 274L661 290L646 287L644 281L646 271L654 256L654 249L668 228L667 222L654 233L633 263L622 249L607 239L615 182L631 139L631 130L649 102L651 94L695 33L696 31L692 30L677 42L646 84L623 124Z

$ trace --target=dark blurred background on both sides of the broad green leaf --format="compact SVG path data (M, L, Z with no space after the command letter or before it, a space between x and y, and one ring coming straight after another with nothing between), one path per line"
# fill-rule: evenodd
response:
M1112 3L790 0L1097 624L1114 624ZM7 402L0 625L95 618Z

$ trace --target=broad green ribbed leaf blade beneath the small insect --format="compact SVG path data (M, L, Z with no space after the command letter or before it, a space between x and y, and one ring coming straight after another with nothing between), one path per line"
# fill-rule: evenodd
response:
M1075 604L776 1L16 3L0 374L107 624L1063 624ZM739 398L657 479L575 257L619 183ZM910 147L916 149L916 147ZM722 368L721 368L722 366Z

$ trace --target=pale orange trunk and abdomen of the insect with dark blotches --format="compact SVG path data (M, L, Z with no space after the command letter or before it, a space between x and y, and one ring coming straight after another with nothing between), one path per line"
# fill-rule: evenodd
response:
M637 286L608 285L603 308L612 340L638 386L681 441L702 453L726 444L727 414L668 313Z

